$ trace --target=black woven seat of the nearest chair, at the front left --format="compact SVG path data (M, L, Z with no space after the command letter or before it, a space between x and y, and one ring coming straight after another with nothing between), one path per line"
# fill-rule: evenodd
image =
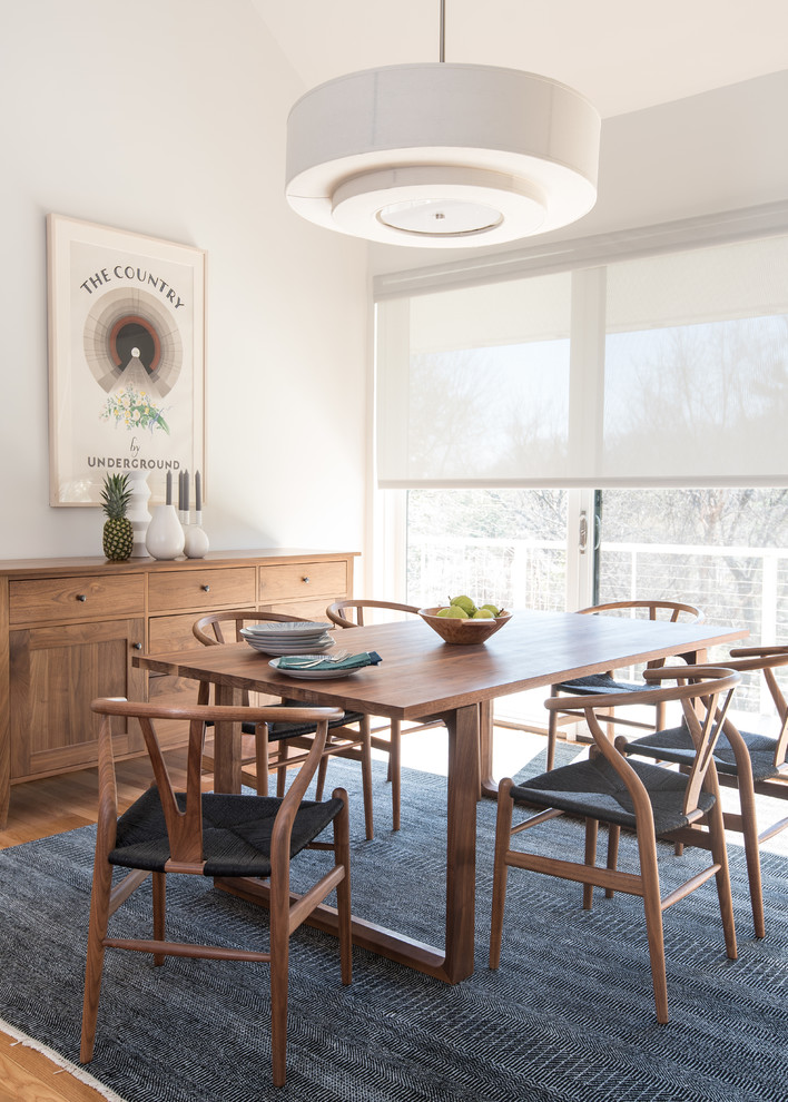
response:
M180 810L186 794L177 793ZM276 796L203 794L204 876L270 876L270 833L282 807ZM302 800L293 824L290 857L305 849L342 810L342 800ZM170 859L161 800L157 788L149 788L118 819L110 865L165 872Z

